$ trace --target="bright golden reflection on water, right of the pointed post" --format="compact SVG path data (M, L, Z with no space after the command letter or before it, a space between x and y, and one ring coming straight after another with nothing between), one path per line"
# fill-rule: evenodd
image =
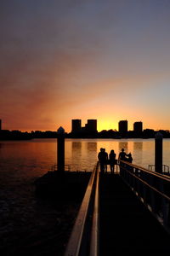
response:
M65 143L65 162L71 165L71 169L91 171L97 160L99 148L105 148L110 153L111 149L116 152L116 158L122 148L127 153L133 154L133 164L148 168L148 165L155 162L155 141L154 139L68 139ZM71 154L69 153L71 151ZM163 164L170 166L170 140L163 142Z

